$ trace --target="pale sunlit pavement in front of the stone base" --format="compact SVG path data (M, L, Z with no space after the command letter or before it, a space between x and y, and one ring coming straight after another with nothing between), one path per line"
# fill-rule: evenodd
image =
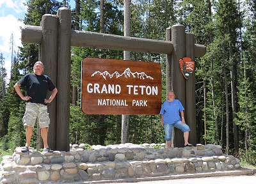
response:
M123 180L85 181L83 183L108 184L256 184L256 172L252 169L214 173L177 174L151 178L126 178Z

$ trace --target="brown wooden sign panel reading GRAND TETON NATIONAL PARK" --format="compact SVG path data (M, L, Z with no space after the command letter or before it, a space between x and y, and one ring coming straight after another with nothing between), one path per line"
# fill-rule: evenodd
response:
M82 61L84 114L159 114L161 65L86 57Z

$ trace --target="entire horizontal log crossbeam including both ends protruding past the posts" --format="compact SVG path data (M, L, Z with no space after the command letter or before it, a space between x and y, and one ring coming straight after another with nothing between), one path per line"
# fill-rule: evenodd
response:
M41 43L41 40L42 27L27 25L22 27L22 42ZM71 46L149 52L158 54L172 54L173 50L173 44L170 41L74 30L71 31ZM195 57L202 57L205 53L206 47L204 45L195 44Z

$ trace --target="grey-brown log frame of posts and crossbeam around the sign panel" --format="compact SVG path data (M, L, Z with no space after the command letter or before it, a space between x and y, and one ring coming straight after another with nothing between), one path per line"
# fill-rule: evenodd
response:
M77 31L71 30L71 10L62 7L58 10L57 15L45 14L42 17L42 27L29 25L22 27L21 40L23 43L40 45L40 60L45 67L49 67L49 70L46 71L49 72L48 75L52 80L55 79L59 90L57 99L48 104L48 110L51 112L48 143L53 150L70 150L68 136L70 124L70 46L167 54L166 91L174 90L177 98L186 106L185 109L189 109L189 111L185 111L186 121L190 123L189 127L191 128L189 142L196 144L195 72L191 73L188 80L184 80L184 77L180 75L179 59L191 57L195 61L195 57L204 56L206 47L195 44L195 36L192 33L185 33L184 26L168 27L166 29L166 41ZM116 66L123 64L120 62ZM58 72L56 72L57 69ZM125 113L125 111L127 109L122 114L130 114ZM180 141L182 137L182 132L175 132L174 140L177 140L177 142L174 141L175 147L184 146L182 145L183 142Z

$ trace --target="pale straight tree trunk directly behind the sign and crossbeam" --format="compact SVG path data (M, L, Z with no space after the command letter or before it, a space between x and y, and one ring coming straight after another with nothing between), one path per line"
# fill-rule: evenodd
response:
M124 36L131 36L130 1L124 0ZM124 51L124 60L131 59L131 52ZM125 62L125 61L124 61ZM129 142L129 115L122 115L122 144Z

